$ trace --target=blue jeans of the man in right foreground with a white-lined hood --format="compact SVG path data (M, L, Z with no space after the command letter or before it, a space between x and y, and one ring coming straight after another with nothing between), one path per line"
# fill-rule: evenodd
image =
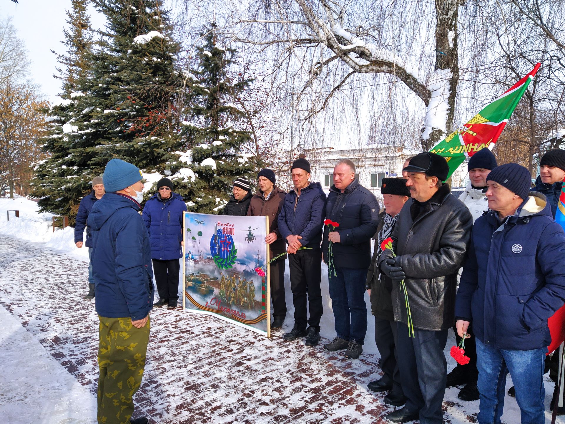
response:
M531 351L498 349L476 340L480 393L479 422L499 424L510 372L520 406L521 424L544 424L544 360L547 348Z

